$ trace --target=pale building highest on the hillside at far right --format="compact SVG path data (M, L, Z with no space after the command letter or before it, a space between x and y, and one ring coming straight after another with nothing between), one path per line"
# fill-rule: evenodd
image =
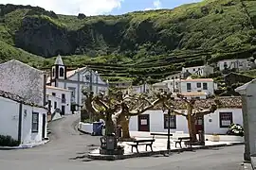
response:
M238 69L239 71L248 70L251 66L251 61L247 59L224 59L217 62L220 71L227 69Z

